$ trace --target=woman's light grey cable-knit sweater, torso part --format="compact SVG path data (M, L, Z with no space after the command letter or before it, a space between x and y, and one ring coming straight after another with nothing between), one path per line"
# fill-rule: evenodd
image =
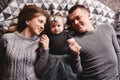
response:
M26 38L18 32L3 36L6 54L3 80L38 80L34 72L39 38Z

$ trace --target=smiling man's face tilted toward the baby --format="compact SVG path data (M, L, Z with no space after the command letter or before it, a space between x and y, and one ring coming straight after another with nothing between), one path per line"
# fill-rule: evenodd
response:
M89 29L88 23L90 22L90 14L84 10L77 8L71 14L69 19L72 27L79 32L87 32Z

